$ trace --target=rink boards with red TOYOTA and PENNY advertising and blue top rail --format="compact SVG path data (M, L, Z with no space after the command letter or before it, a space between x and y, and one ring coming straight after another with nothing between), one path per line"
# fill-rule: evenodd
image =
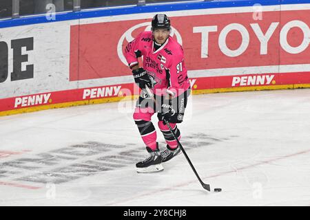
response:
M193 94L310 87L310 1L293 2L179 3L0 21L0 115L138 96L123 49L160 12L183 45Z

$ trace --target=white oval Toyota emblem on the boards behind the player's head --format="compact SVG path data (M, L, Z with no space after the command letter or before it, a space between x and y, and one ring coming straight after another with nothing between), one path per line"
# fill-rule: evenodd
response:
M144 22L144 23L139 23L137 25L134 25L134 27L128 29L122 36L121 39L119 39L118 44L117 44L117 54L118 57L121 59L124 65L128 65L126 58L123 54L123 45L127 45L127 43L130 43L131 41L134 40L134 36L132 36L132 32L138 28L145 27L145 31L150 31L151 30L151 25L150 22ZM180 43L180 45L183 44L182 37L180 36L180 33L178 30L172 27L172 31L170 36L176 36L176 41Z

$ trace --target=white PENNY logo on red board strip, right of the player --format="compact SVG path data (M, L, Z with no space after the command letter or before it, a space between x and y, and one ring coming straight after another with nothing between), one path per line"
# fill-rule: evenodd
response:
M272 81L275 75L263 75L263 76L235 76L232 79L231 86L249 86L249 85L270 85L270 83L276 83Z

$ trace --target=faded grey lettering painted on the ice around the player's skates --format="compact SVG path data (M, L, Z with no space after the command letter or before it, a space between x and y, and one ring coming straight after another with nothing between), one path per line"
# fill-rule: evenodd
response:
M182 144L185 150L191 150L228 139L195 133L183 137ZM145 155L145 149L136 144L85 142L2 162L0 181L61 184L127 166L134 168L134 164Z

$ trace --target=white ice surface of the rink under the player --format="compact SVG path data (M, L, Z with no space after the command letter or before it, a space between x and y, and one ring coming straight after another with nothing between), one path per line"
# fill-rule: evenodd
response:
M310 205L310 89L208 94L190 100L178 126L180 142L211 192L200 186L184 155L163 164L159 173L136 173L134 164L147 152L132 120L134 102L125 101L1 117L0 205ZM156 125L156 115L152 120ZM112 145L93 155L51 153L87 142ZM27 161L42 153L53 155L52 160ZM55 155L72 159L53 160ZM109 166L113 162L99 158L114 155L123 159L112 170L90 166ZM74 178L57 183L52 179L57 174ZM38 175L41 182L21 179Z

